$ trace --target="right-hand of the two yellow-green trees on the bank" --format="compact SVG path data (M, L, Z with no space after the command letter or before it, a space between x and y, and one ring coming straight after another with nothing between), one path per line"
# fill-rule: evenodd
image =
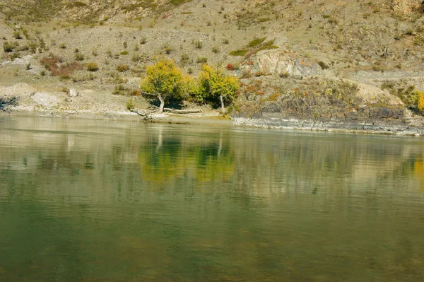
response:
M240 88L238 79L230 76L225 69L204 64L198 77L199 95L202 100L219 99L220 107L225 112L225 103L236 98Z

